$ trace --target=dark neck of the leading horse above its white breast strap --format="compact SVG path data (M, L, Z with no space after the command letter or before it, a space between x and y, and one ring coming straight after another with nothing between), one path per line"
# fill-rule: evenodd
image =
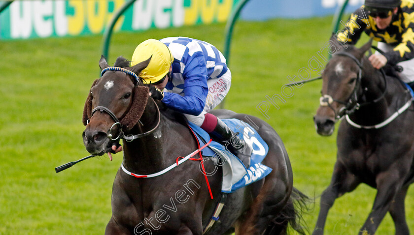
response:
M136 124L128 134L139 134L154 128L158 123L158 106L152 99L148 100L145 111L140 118L140 123ZM149 135L133 140L132 142L123 141L124 166L127 170L140 174L148 175L164 170L169 167L173 160L166 158L166 150L176 135L176 122L160 114L159 126Z

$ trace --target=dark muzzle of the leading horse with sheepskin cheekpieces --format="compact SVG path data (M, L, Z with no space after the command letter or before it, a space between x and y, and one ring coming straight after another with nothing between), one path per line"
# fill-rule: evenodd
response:
M91 131L88 128L82 133L83 145L86 150L93 154L102 156L105 153L105 148L108 145L109 138L106 132Z

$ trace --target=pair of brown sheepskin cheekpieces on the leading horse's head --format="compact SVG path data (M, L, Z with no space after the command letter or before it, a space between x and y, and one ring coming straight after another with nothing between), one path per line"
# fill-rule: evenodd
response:
M95 86L98 79L94 81L92 87ZM92 88L91 87L91 88ZM144 86L136 86L133 90L132 104L126 115L120 120L124 131L131 130L137 124L139 118L144 113L146 103L148 101L149 88ZM86 98L85 106L83 108L82 122L86 126L88 119L91 118L92 113L92 93L89 91Z

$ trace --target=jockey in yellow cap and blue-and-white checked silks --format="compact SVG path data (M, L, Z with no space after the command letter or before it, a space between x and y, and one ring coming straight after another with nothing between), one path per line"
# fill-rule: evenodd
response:
M168 37L140 43L134 51L131 65L149 58L148 66L138 76L145 84L151 84L151 96L183 113L189 121L222 144L230 143L229 150L242 161L243 158L248 159L251 147L223 121L208 114L224 99L231 87L231 72L223 54L201 40Z

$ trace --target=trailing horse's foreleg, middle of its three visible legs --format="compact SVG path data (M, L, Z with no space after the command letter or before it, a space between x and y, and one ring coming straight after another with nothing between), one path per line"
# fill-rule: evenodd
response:
M391 202L401 190L402 182L397 169L382 172L377 176L377 195L374 206L367 220L359 231L359 235L375 234L382 219L390 208Z

